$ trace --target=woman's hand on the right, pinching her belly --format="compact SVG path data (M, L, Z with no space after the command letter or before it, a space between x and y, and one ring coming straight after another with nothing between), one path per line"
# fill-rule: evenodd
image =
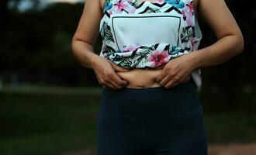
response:
M195 69L192 57L189 53L175 57L164 65L164 68L156 78L156 81L164 86L171 88L177 84L189 81L191 72Z

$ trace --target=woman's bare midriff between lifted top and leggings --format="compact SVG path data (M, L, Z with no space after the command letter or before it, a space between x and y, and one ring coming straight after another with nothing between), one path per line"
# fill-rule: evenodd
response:
M152 69L133 68L130 71L116 72L116 73L123 80L126 80L129 82L129 84L126 85L126 88L162 87L162 85L156 82L155 80L158 77L158 75L161 74L161 71L163 70L163 68L164 66L152 68Z

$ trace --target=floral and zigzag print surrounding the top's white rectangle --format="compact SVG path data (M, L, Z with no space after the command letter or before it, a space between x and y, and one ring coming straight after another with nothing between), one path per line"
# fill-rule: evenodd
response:
M147 0L146 0L147 1ZM144 68L144 67L157 67L161 66L175 57L179 57L185 53L189 53L190 50L195 50L195 23L192 0L157 0L153 3L170 4L170 7L175 7L175 11L182 15L183 25L181 27L180 40L182 47L175 46L173 44L156 43L156 44L132 44L126 45L121 49L115 49L115 40L112 34L112 29L108 22L103 22L101 34L106 43L105 48L102 48L102 56L106 57L112 62L115 62L120 67L126 69L131 68ZM137 9L144 8L138 13L157 13L162 12L162 7L152 7L153 5L144 7L142 4L147 5L149 3L140 3L138 0L106 0L105 12L109 13L135 13ZM165 9L166 10L166 9ZM157 46L161 44L159 48ZM113 47L114 46L114 47ZM162 48L163 46L166 46Z

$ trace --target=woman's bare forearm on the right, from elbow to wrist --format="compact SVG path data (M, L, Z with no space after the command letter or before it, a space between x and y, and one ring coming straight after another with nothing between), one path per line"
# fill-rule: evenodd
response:
M209 47L189 53L194 68L202 68L222 64L244 50L242 37L224 36Z

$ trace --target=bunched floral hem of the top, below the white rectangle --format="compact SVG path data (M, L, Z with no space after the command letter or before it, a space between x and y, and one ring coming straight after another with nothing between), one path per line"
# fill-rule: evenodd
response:
M102 56L111 60L119 67L126 69L157 67L167 63L175 57L180 57L187 50L168 43L131 45L120 50L114 50L106 45Z

